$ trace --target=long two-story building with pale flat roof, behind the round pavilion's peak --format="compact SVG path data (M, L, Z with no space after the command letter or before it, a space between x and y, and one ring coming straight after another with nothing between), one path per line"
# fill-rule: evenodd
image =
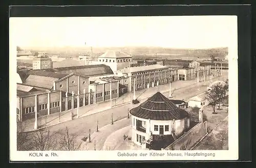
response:
M170 69L162 65L147 65L139 67L124 68L115 72L116 75L127 77L131 85L129 92L141 90L178 80L178 69Z

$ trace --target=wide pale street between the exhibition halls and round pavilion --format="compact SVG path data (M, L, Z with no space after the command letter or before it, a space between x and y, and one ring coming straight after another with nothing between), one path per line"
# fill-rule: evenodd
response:
M223 78L225 78L225 76L222 76ZM203 86L204 82L199 82L199 83L195 83L194 85L190 86L185 86L184 88L180 88L174 91L173 95L174 98L173 99L184 99L187 100L190 97L193 97L195 95L201 94L203 92L206 91L207 86L209 85L209 83L211 83L212 81L217 80L217 78L212 79L212 80L208 80L206 81L206 86ZM180 82L184 82L184 81L180 81ZM162 91L164 90L164 88L166 88L165 92L161 92L163 95L168 96L169 95L169 91L168 91L168 86L158 86L161 87L160 88L152 88L152 89L157 89L156 91L152 91L152 90L145 90L143 91L143 94L141 96L138 97L138 100L140 101L140 103L144 102L149 96L144 96L144 95L149 95L151 94L151 92L156 93L157 91ZM175 87L176 88L176 87ZM136 93L138 94L138 93ZM152 93L153 94L153 93ZM131 94L130 94L131 95ZM105 103L105 102L104 102ZM89 130L91 130L91 135L92 135L92 143L90 143L91 147L89 147L89 150L92 150L92 144L94 143L94 136L96 137L96 134L101 134L100 136L97 135L97 146L96 149L97 150L102 150L103 144L105 139L111 134L111 132L121 129L123 127L126 127L127 124L129 125L129 122L118 122L118 120L127 118L127 114L128 111L136 106L138 106L139 104L132 104L132 103L127 103L127 104L123 104L123 105L119 105L117 107L113 107L113 108L109 108L106 110L103 110L99 113L92 113L90 115L87 115L86 117L80 117L74 120L70 120L67 122L63 122L51 127L46 128L47 130L50 130L51 133L56 133L59 132L60 130L65 129L66 127L68 127L70 129L70 133L72 134L76 134L78 135L77 137L77 142L80 143L81 142L81 138L82 137L89 137ZM95 105L95 107L97 106L97 104ZM93 109L93 110L97 110L97 108ZM80 113L82 114L83 111L80 110ZM111 128L111 130L109 131L102 131L101 129L103 129L104 126L110 125L111 124L111 117L113 114L113 121L114 124L112 125L113 128ZM99 132L96 132L96 126L97 126L97 121L98 121L98 128L99 128ZM116 123L118 126L115 128ZM84 143L82 143L84 144ZM83 145L84 146L84 145ZM84 147L83 147L84 149Z

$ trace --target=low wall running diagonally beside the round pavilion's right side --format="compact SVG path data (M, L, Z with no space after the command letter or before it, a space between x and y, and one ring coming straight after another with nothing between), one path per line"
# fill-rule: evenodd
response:
M198 123L164 150L189 150L207 133L207 121Z

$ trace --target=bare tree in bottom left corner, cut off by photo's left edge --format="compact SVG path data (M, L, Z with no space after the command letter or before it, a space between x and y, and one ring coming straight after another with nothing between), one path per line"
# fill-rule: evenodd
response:
M25 126L22 122L17 122L17 151L29 151L30 134L25 132Z

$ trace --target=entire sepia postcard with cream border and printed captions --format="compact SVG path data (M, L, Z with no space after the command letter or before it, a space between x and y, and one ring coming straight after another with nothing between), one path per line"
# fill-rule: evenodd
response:
M11 17L11 156L237 159L237 38L236 16Z

